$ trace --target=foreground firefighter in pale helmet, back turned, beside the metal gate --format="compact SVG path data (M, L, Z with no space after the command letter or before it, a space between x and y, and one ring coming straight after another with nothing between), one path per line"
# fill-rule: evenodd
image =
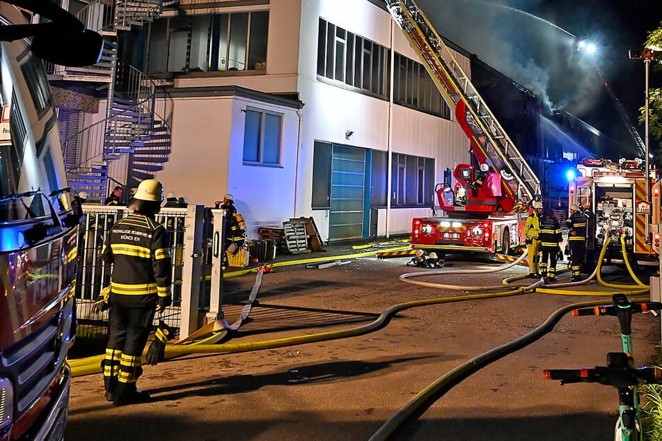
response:
M102 368L106 399L115 406L150 398L136 387L143 373L141 355L155 312L163 312L172 302L168 235L155 220L162 201L160 182L141 182L128 205L134 213L113 225L104 246L104 262L113 264L113 273L110 335Z

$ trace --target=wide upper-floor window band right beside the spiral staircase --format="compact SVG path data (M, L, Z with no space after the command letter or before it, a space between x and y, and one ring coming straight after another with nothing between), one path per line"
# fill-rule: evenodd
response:
M265 70L268 29L269 11L157 19L148 74Z

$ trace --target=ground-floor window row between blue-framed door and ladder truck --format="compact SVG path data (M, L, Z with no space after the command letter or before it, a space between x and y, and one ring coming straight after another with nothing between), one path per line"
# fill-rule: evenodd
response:
M429 207L434 203L434 159L393 153L391 206Z

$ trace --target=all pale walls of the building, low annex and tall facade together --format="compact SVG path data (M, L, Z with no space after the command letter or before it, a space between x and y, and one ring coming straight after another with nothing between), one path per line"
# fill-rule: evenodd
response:
M417 59L386 11L363 0L272 0L268 6L249 9L264 8L269 8L266 72L179 77L175 90L236 85L265 93L298 92L304 103L299 111L301 127L297 111L290 108L239 96L177 97L171 158L156 174L166 191L206 206L213 206L226 192L233 193L251 238L258 235L260 225L313 216L326 240L329 213L311 208L315 140L435 158L436 182L441 182L445 168L469 161L468 140L455 122L317 81L319 17ZM226 12L217 9L214 12ZM468 66L466 58L459 61ZM243 165L246 105L284 114L281 168ZM349 140L348 130L354 131ZM429 208L398 208L387 217L380 209L377 234L410 232L411 218L429 214Z

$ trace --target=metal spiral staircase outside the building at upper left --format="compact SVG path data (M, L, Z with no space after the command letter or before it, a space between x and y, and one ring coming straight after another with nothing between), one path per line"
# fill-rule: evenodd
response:
M162 170L171 152L172 100L135 67L118 60L122 31L143 26L161 13L159 0L98 0L77 17L104 35L99 63L88 67L47 66L49 79L107 88L105 118L75 133L63 133L70 186L88 200L104 200L109 185L134 187Z

